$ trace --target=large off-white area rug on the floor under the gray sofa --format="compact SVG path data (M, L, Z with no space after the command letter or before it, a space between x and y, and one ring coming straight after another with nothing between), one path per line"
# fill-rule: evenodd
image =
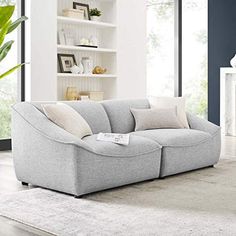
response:
M0 195L0 215L55 235L236 235L236 162L88 195Z

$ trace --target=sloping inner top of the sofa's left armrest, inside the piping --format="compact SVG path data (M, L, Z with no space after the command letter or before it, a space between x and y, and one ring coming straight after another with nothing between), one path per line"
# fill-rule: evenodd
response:
M12 107L13 122L16 119L23 119L35 131L55 142L72 144L80 148L91 151L91 148L81 139L70 134L66 130L51 122L41 111L32 104L24 102L17 103ZM17 115L14 115L14 114Z

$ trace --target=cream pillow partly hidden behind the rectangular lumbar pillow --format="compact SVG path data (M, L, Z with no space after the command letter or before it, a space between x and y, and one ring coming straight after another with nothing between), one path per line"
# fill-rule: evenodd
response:
M177 107L177 116L184 128L189 128L184 97L149 97L152 108L171 108Z

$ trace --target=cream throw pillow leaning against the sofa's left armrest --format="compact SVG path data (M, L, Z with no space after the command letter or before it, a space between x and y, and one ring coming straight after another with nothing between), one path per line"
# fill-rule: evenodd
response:
M86 120L72 107L57 103L44 104L42 108L48 119L76 137L81 139L87 135L92 135Z

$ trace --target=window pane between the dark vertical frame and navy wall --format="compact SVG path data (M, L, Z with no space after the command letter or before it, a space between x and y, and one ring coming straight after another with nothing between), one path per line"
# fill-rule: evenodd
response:
M183 96L187 109L207 118L207 0L183 0Z

